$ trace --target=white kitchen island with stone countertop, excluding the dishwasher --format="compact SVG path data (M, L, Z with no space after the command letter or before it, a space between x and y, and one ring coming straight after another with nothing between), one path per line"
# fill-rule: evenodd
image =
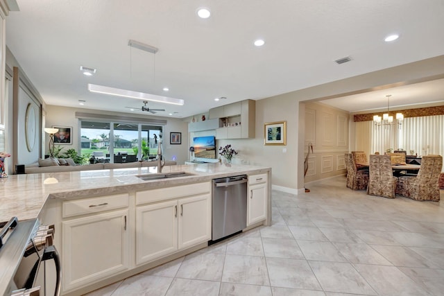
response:
M247 227L271 222L271 168L165 166L183 177L142 180L156 167L12 175L0 180L1 220L39 218L56 226L62 294L80 295L206 247L211 182L248 175Z

